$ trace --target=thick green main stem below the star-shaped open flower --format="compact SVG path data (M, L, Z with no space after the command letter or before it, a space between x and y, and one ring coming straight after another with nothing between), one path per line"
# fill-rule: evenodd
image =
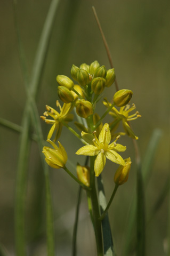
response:
M95 186L95 173L94 173L94 160L95 157L90 157L90 167L91 167L91 188L90 196L92 202L92 212L93 212L93 224L94 224L94 233L96 239L96 247L98 251L98 256L103 256L103 239L102 239L102 228L101 228L101 220L100 218L100 210L99 210L99 202L98 196L96 193Z

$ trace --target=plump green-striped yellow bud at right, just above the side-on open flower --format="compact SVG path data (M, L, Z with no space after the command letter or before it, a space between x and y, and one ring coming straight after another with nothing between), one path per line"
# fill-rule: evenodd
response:
M114 103L117 107L123 107L128 104L132 98L133 92L131 90L119 90L114 95Z

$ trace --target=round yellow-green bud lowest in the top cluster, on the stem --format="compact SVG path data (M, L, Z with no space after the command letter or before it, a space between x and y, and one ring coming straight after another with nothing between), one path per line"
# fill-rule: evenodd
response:
M93 106L90 101L77 100L76 102L76 113L78 116L87 118L93 114Z

